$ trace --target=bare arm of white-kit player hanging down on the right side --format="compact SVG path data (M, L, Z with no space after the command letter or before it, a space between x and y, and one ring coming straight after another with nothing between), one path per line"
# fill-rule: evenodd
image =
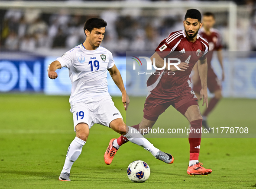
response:
M117 87L122 92L122 101L123 101L124 110L127 110L129 103L130 103L130 99L129 99L129 97L126 93L126 90L124 88L122 76L121 76L119 70L117 69L116 65L114 65L112 68L108 69L108 71L109 71L110 76L112 77L113 81L115 82Z

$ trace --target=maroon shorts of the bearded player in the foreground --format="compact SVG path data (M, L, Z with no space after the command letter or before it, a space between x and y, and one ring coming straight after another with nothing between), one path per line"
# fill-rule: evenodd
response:
M144 104L144 118L150 121L156 121L157 118L172 105L180 113L185 115L188 107L192 105L198 105L198 98L194 95L191 88L181 91L178 94L169 96L168 99L156 97L156 95L149 94Z

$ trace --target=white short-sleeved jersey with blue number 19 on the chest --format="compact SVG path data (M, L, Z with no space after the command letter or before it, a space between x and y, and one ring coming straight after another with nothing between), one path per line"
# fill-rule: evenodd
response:
M104 47L86 50L82 44L57 58L62 67L69 70L72 89L69 98L71 106L77 102L100 95L107 91L107 69L114 66L112 53Z

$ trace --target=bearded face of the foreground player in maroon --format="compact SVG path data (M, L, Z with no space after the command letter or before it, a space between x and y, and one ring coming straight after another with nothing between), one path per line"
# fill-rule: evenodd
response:
M198 22L198 19L187 18L184 21L185 33L191 39L196 37L201 26L202 24Z

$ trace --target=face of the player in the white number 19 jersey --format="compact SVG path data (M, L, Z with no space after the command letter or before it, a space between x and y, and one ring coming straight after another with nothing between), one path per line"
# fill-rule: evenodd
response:
M89 34L87 38L93 48L97 48L100 46L105 34L105 28L94 28Z

